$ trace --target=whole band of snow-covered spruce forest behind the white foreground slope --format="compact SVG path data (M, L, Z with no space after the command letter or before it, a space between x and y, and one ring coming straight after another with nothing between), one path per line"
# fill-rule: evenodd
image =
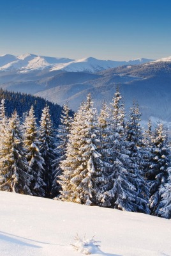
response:
M11 108L7 98L20 93L2 95L1 191L171 218L168 129L151 120L142 129L137 102L126 113L119 87L100 113L89 93L74 115L51 102L40 113L31 98L29 109Z

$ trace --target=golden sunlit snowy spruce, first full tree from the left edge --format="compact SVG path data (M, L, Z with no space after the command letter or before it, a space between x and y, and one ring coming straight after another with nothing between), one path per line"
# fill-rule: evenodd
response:
M8 129L3 141L4 157L0 159L0 189L20 194L32 195L29 186L31 175L22 145L20 120L17 112L9 119Z

